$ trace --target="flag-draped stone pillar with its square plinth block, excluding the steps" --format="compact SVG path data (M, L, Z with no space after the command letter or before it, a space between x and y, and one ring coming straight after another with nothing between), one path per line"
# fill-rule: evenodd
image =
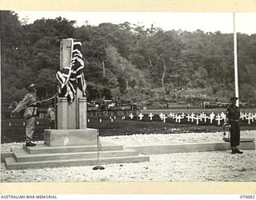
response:
M73 38L63 39L60 43L60 71L57 78L61 83L61 94L58 97L57 130L45 130L45 144L48 146L97 143L97 130L87 128L81 46L81 42L75 42ZM82 80L78 80L78 76Z

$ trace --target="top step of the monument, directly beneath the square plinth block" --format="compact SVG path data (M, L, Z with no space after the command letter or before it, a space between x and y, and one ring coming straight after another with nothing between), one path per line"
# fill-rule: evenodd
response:
M88 152L97 151L97 145L83 145L83 146L47 146L45 144L37 146L23 146L29 154L58 154L58 153L72 153L72 152ZM12 149L14 151L15 149ZM111 143L104 143L100 146L100 150L123 150L122 145L114 145Z

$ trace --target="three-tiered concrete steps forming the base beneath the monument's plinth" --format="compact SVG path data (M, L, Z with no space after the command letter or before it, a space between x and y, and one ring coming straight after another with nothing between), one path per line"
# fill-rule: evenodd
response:
M42 167L92 166L110 163L149 162L148 155L138 154L138 150L124 150L123 146L103 142L83 146L22 146L11 148L4 162L7 170L22 170Z

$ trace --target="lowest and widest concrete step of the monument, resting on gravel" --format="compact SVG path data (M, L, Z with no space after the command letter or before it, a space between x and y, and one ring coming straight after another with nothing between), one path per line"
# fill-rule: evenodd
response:
M14 158L6 158L7 170L24 170L31 168L42 167L62 167L62 166L93 166L110 163L127 163L127 162L146 162L150 161L150 157L147 155L138 154L136 156L126 157L112 157L112 158L100 158L99 162L96 158L90 159L68 159L68 160L53 160L53 161L38 161L38 162L16 162Z

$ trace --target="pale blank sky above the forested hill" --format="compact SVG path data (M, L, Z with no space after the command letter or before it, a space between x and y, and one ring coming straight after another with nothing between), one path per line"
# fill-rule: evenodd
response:
M221 31L233 33L233 13L188 13L188 12L60 12L60 11L15 11L19 19L28 18L32 23L40 18L57 18L61 16L68 20L75 20L76 26L86 24L98 26L102 22L119 24L130 22L150 28L151 24L162 30L203 30L204 32ZM235 24L237 32L256 34L256 12L236 13Z

